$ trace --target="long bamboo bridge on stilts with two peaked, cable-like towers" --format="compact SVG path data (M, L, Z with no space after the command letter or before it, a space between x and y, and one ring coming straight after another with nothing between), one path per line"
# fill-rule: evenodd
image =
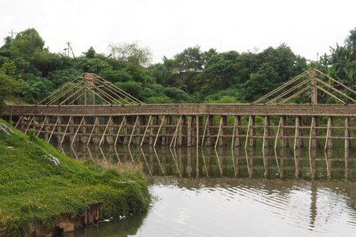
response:
M300 96L308 104L297 103ZM84 73L38 105L8 105L3 117L50 142L162 146L350 147L356 92L311 68L251 104L145 104ZM318 96L335 104L320 104ZM291 142L293 141L293 142Z

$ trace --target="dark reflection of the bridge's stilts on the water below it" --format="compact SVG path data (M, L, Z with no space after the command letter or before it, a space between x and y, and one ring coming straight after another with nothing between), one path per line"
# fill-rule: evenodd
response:
M356 179L356 157L349 149L204 149L169 147L58 146L75 159L105 164L140 164L147 175L182 178ZM335 154L334 154L335 153ZM341 154L340 154L341 153Z

